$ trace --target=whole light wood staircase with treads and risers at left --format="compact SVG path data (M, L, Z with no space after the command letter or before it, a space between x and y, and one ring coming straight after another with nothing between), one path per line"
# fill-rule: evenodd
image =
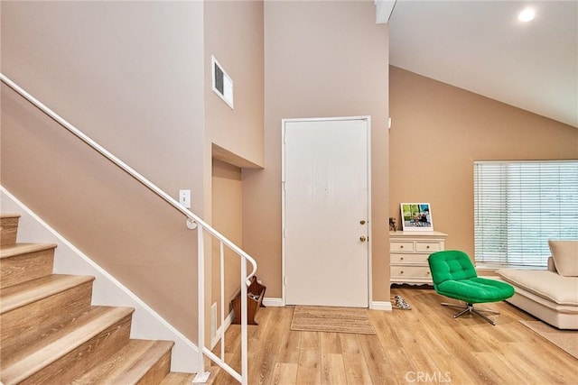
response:
M0 380L9 384L181 384L171 341L130 339L133 308L91 306L94 277L52 274L55 244L16 243L0 215Z

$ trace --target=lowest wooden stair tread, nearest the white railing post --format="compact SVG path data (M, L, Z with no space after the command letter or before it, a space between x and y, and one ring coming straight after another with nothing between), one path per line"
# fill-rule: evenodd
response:
M117 353L72 383L137 383L173 344L172 341L128 340Z

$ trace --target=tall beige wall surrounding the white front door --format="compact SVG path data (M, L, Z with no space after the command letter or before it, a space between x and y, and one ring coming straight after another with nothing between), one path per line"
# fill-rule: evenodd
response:
M243 244L281 298L281 120L371 115L373 299L389 300L387 26L371 1L266 2L265 170L243 170Z

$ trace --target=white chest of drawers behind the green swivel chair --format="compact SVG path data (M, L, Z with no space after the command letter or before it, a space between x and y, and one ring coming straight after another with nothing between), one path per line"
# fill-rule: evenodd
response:
M427 257L445 249L447 236L439 232L389 232L391 283L431 285Z

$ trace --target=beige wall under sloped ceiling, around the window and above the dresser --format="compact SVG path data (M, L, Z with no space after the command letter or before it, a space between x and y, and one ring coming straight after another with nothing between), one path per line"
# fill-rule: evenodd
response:
M578 158L578 129L424 78L389 69L390 200L429 202L446 248L473 256L473 161Z

